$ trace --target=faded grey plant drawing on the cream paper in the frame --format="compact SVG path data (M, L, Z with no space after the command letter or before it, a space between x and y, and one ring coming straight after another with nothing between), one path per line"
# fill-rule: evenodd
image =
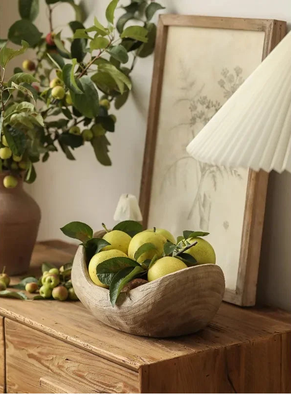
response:
M192 70L190 68L186 69L182 62L180 62L180 70L180 90L182 92L182 97L175 101L175 105L181 102L184 102L184 104L187 103L189 118L186 122L176 124L171 130L181 127L184 129L186 128L189 133L189 138L186 139L186 143L183 145L183 151L186 152L188 143L199 133L204 125L220 109L223 103L204 95L204 85L197 87L196 81L190 80L192 77ZM227 68L221 71L221 79L218 81L218 85L223 90L223 96L226 100L231 97L234 91L243 83L244 79L241 74L242 69L238 66L234 67L233 72L230 72ZM210 179L212 188L216 191L219 178L236 177L241 180L242 177L236 169L205 164L197 161L186 153L186 155L177 158L168 166L162 182L162 188L165 182L172 182L173 180L175 182L179 177L180 174L177 172L183 171L183 169L181 169L178 164L184 162L185 165L189 165L189 161L195 163L198 185L195 195L193 196L192 205L189 207L187 218L188 220L193 217L198 218L200 228L207 231L211 212L211 195L204 187L206 180L208 181ZM187 185L185 184L185 188L186 187ZM223 224L223 226L225 230L228 229L228 226L225 224Z

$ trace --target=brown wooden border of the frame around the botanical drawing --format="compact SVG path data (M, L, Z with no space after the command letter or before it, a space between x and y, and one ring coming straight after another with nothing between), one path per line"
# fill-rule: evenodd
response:
M171 27L206 29L249 30L264 32L262 59L264 59L286 34L286 22L266 19L220 18L191 15L161 15L157 28L155 59L148 110L146 147L140 191L140 207L145 227L151 200L152 177L155 165L156 140L163 88L163 74L167 38ZM195 48L193 48L195 50ZM261 56L261 55L260 55ZM224 300L238 305L250 306L256 302L256 288L262 240L268 174L248 172L243 224L236 286L227 288ZM149 223L149 225L152 225ZM161 224L156 224L161 226ZM192 230L192 229L189 229ZM193 230L200 230L194 228ZM201 229L203 230L203 229ZM211 232L211 229L210 229ZM219 264L219 262L218 262Z

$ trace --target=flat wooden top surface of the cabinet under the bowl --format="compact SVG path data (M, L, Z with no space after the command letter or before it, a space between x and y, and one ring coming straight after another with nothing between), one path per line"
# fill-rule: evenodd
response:
M57 266L68 262L75 250L75 245L60 241L38 243L29 274L40 275L40 265L44 261ZM12 282L16 280L13 278ZM227 303L221 305L206 329L172 339L146 338L119 332L99 323L80 302L0 298L0 315L133 370L193 352L220 349L268 338L276 333L291 332L291 314L288 312L241 308Z

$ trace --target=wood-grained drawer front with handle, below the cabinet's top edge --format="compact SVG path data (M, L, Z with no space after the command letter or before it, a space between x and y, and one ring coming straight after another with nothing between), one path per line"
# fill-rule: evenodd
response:
M5 319L7 393L138 393L138 373Z

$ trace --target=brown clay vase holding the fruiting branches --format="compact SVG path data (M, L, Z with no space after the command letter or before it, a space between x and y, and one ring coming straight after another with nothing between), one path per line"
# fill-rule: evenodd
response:
M23 181L13 189L3 186L7 175L0 172L0 273L20 275L29 269L40 222L40 208L23 189Z

